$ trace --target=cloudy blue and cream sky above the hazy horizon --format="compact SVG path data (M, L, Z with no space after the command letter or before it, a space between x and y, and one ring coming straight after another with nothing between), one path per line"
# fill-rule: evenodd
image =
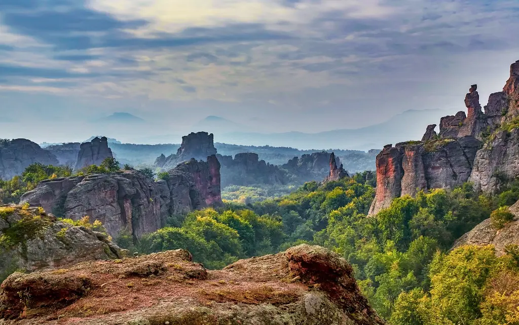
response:
M502 89L517 17L517 0L0 0L0 138L165 142L209 115L270 133L455 114L470 85L483 105ZM146 123L98 123L115 112Z

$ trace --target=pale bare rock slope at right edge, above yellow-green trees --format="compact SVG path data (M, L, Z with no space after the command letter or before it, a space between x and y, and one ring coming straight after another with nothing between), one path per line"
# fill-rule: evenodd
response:
M503 255L508 245L519 245L519 201L510 207L510 212L514 214L514 220L502 229L496 229L487 219L456 240L453 249L464 245L494 245L496 253Z

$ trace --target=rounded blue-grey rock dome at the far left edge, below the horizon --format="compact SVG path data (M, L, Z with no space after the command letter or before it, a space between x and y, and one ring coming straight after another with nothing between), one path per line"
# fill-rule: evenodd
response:
M15 139L0 143L0 179L8 180L20 175L35 162L54 166L59 164L56 156L32 141Z

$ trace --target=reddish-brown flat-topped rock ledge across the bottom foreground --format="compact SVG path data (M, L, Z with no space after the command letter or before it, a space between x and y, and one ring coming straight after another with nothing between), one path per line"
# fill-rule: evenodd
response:
M59 272L16 273L2 290L4 325L384 324L351 266L308 245L217 271L193 263L185 250L87 262Z

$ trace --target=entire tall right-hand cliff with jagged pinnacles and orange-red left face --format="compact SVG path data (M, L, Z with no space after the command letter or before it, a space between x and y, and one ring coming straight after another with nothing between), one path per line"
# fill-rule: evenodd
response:
M484 113L477 85L470 87L465 105L467 115L458 112L441 119L438 136L430 125L421 142L387 146L377 156L371 213L395 197L415 195L417 189L453 188L471 181L476 189L496 193L519 177L519 61L511 65L503 91L490 95Z

